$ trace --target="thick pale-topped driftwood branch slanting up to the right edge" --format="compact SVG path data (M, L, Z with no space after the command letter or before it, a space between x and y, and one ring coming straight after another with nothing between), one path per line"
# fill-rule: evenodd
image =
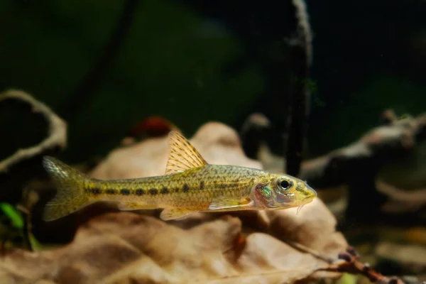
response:
M392 111L384 111L388 119L395 117ZM301 176L318 187L334 187L350 183L361 173L376 170L398 155L411 151L418 141L425 138L426 114L417 118L407 117L386 121L383 126L371 129L359 141L327 155L304 163Z

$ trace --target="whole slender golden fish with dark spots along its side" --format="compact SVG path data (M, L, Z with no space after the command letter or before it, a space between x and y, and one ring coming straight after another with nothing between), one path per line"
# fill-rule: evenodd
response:
M209 165L180 133L169 134L165 175L126 180L96 180L52 157L43 165L57 193L43 213L46 221L88 204L113 200L119 209L163 208L163 220L190 212L301 208L317 196L306 182L290 175L236 165Z

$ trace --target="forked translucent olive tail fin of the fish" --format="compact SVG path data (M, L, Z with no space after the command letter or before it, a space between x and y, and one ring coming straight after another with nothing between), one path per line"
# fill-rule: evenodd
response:
M57 190L55 197L45 205L45 221L59 219L90 203L84 194L84 185L88 182L86 175L49 156L43 158L43 167Z

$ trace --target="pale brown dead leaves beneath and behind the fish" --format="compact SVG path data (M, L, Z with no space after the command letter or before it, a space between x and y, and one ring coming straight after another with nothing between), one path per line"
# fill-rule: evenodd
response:
M261 168L224 124L205 124L191 142L209 163ZM167 147L166 138L149 138L118 148L90 175L162 175ZM153 216L107 213L82 224L70 244L2 256L0 278L4 283L295 283L339 277L327 271L347 247L333 214L318 198L296 211L195 213L173 222L156 218L158 210Z

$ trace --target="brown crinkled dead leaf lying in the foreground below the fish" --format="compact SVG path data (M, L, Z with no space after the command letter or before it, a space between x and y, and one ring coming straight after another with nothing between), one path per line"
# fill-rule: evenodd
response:
M20 283L293 283L327 267L263 233L251 234L234 258L240 235L236 217L184 230L153 217L110 213L81 226L67 246L4 256L0 273Z

